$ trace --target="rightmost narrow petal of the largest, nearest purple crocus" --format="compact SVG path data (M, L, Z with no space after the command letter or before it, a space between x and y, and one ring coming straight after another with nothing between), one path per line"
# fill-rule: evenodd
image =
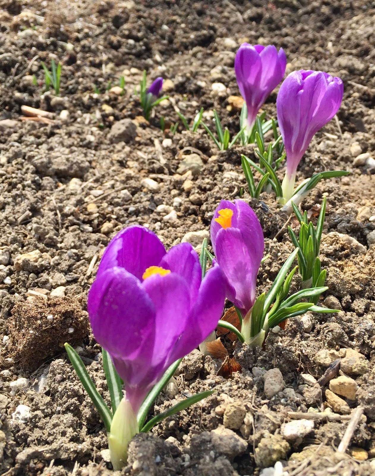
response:
M202 281L189 320L177 342L170 363L189 354L208 337L221 318L225 301L225 279L219 266L211 268Z

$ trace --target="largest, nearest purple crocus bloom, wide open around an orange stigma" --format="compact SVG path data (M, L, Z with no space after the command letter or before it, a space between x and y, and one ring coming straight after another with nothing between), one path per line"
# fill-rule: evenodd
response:
M124 380L135 415L165 370L217 326L224 300L220 267L202 281L190 243L166 252L152 231L138 225L111 240L87 309L94 336Z

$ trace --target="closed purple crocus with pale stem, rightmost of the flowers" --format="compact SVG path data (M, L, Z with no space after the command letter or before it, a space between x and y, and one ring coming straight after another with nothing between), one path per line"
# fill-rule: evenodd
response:
M337 113L343 94L342 80L323 71L293 71L280 86L276 106L287 153L282 183L285 201L293 195L299 161L314 134Z

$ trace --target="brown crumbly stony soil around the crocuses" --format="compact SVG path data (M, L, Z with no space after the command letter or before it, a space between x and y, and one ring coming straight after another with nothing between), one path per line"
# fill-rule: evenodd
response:
M246 191L240 154L252 157L252 146L220 152L203 129L188 132L181 121L175 134L169 129L176 109L192 121L203 107L210 126L216 109L231 134L238 131L239 111L228 98L239 96L233 62L243 41L282 47L287 73L320 69L344 81L338 121L317 133L298 169L298 180L325 169L351 172L319 183L302 203L315 220L327 197L322 302L340 312L290 319L263 348L235 344L242 373L229 379L216 375L221 360L192 352L176 377L177 395L162 393L153 411L202 390L213 395L135 436L122 474L251 475L277 460L287 475L373 474L374 7L369 0L0 0L1 474L113 474L105 428L62 345L75 346L109 401L86 298L117 231L138 223L170 247L189 231L208 230L218 201L239 198L244 187L270 254L259 293L291 252L288 217L274 196L256 201ZM44 93L41 62L51 59L62 63L58 97ZM149 81L169 79L170 100L150 123L134 95L143 69ZM121 75L124 94L108 92ZM267 117L275 117L276 93L264 106ZM21 119L21 106L50 114ZM368 155L355 161L361 153ZM185 172L181 162L192 154L200 165ZM264 374L276 368L279 391L266 397ZM331 377L319 380L327 369ZM347 375L356 394L335 407L329 378ZM358 406L364 415L348 451L337 452ZM287 438L285 424L301 415L313 427ZM271 474L281 473L262 473Z

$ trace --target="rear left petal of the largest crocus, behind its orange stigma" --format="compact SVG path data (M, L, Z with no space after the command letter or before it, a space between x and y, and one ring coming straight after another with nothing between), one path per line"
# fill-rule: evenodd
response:
M100 261L96 276L106 269L119 266L142 280L146 268L158 266L165 255L160 239L147 228L133 225L113 238Z

